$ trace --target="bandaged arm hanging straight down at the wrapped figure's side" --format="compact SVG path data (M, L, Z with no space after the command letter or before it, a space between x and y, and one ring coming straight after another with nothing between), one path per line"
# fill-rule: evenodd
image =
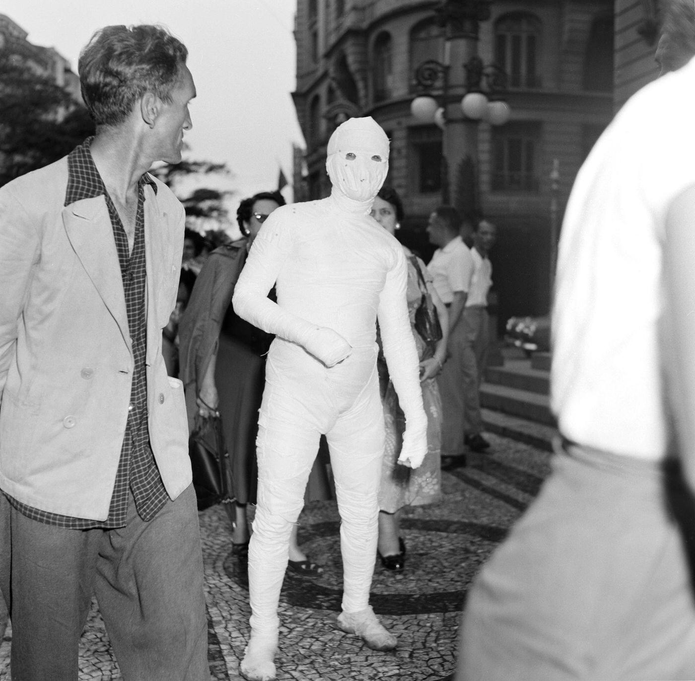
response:
M407 264L399 248L395 266L386 274L377 319L389 376L405 415L403 447L398 461L417 468L427 454L427 415L420 388L418 352L405 298L406 285Z

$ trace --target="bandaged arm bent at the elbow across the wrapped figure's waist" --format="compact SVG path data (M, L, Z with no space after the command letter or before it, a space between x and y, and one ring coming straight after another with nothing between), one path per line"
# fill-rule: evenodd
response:
M347 340L331 328L283 310L268 298L289 253L290 226L273 214L254 239L232 298L234 311L263 331L302 346L325 366L332 367L352 352Z

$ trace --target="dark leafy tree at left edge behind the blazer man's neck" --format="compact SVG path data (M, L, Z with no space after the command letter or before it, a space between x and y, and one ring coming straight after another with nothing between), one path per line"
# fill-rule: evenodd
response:
M0 186L94 134L87 110L31 63L0 50Z

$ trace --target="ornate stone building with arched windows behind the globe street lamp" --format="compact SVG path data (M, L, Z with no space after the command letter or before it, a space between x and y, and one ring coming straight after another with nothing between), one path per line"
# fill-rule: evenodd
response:
M454 17L453 29L442 12ZM338 122L373 116L391 138L387 182L404 200L402 241L427 260L432 209L443 198L474 209L498 225L492 259L500 326L512 315L547 312L564 202L614 111L614 1L297 0L295 37L293 96L307 144L297 200L329 190L325 145ZM472 82L464 63L470 67L476 54L483 66L506 72L505 92L492 93L509 106L505 125L461 111ZM416 69L428 60L444 65L448 80L441 70L425 88L445 108L439 125L411 113L424 94Z

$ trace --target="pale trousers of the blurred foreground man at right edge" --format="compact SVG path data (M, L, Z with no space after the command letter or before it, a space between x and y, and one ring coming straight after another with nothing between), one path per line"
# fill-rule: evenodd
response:
M556 451L468 591L456 680L695 679L692 497L661 462Z

